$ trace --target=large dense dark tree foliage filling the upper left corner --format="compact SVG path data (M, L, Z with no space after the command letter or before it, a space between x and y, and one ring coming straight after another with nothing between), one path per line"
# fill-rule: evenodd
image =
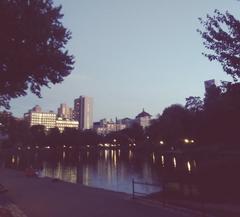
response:
M41 97L43 86L60 83L73 69L65 45L61 6L52 0L0 1L0 106L27 90Z

